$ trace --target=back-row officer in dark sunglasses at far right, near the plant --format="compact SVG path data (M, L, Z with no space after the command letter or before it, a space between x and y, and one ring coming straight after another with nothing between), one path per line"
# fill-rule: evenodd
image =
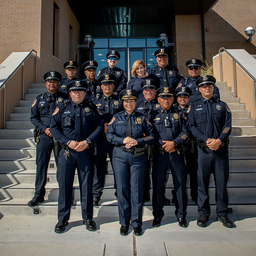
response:
M185 86L191 90L191 94L189 97L189 101L193 102L197 99L201 99L201 93L196 86L196 79L200 76L201 66L203 65L202 60L199 59L191 59L186 62L186 66L188 67L189 77L186 77L180 81L177 87ZM213 86L213 97L216 97L217 100L220 100L220 90L214 85Z

